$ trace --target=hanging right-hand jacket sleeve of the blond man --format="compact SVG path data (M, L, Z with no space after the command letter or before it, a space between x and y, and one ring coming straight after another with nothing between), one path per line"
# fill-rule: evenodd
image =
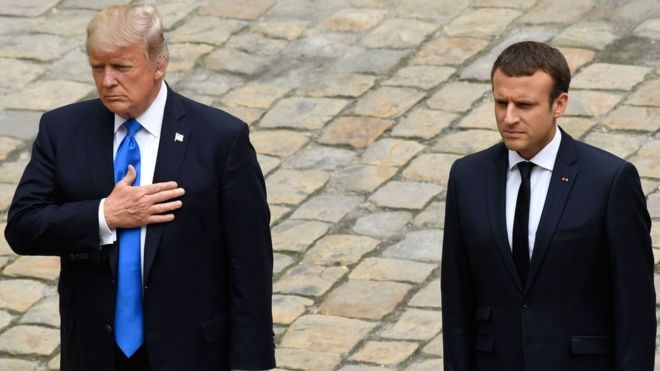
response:
M222 182L231 285L229 367L271 369L275 356L270 212L246 125L234 137Z

